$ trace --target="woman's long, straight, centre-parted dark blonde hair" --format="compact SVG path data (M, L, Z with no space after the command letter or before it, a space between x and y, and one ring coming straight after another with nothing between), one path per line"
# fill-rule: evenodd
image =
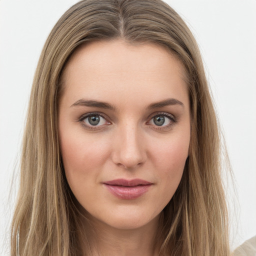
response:
M186 70L191 106L189 159L175 194L163 209L159 255L229 255L219 131L200 53L184 21L160 0L82 0L68 9L50 32L28 107L11 255L16 256L17 247L20 256L81 253L77 231L80 213L66 182L59 150L60 77L78 45L115 38L161 45Z

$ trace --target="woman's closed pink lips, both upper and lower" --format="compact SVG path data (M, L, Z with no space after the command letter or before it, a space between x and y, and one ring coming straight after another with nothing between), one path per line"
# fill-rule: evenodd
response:
M114 179L103 182L105 187L115 196L121 199L135 199L144 194L152 185L143 179Z

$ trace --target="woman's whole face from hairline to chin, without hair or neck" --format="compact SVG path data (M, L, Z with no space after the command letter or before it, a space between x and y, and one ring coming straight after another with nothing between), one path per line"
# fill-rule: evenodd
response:
M78 48L63 71L58 132L67 182L92 219L138 228L173 196L188 156L180 62L155 44Z

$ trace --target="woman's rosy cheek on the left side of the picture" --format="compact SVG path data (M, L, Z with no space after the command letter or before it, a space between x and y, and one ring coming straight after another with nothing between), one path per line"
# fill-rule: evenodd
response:
M62 161L72 190L79 184L97 179L97 173L108 157L108 144L106 139L100 137L60 132Z

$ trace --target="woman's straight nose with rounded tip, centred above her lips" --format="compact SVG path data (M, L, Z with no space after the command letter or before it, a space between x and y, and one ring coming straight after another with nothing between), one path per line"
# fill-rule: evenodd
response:
M119 127L113 140L112 160L126 169L133 169L146 161L143 136L135 125Z

